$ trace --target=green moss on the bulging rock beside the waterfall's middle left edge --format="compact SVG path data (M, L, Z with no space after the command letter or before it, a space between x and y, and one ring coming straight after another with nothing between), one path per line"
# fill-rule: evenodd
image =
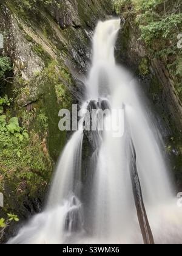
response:
M42 96L33 104L36 111L33 125L36 127L36 132L40 134L42 126L47 128L49 153L55 161L66 144L67 133L59 131L58 128L58 113L61 108L71 108L72 96L68 88L72 82L72 76L66 67L56 61L51 62L37 79L38 93ZM40 109L41 112L39 112Z

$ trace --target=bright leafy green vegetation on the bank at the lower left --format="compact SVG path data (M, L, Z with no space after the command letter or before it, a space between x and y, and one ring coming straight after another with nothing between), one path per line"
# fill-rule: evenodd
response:
M22 205L25 195L35 197L43 193L52 170L46 143L33 129L31 132L25 129L25 126L29 127L33 113L22 110L20 125L20 118L12 117L11 103L7 96L0 98L3 107L0 115L0 191L5 196L2 216L10 211L20 214L17 207ZM45 127L47 119L43 113L39 119ZM1 218L3 231L10 222L18 221L15 215L8 217L7 221Z

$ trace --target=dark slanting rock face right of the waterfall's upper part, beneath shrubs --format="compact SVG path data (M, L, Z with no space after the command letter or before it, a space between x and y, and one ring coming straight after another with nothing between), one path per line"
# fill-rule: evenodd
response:
M182 103L175 90L172 77L170 77L164 63L150 55L143 42L138 39L137 33L128 24L124 27L123 32L121 32L118 49L120 61L130 66L136 74L145 76L144 72L142 72L145 70L141 70L141 65L143 65L143 69L148 69L150 75L158 79L158 84L159 87L162 87L163 94L163 102L160 103L163 104L165 112L168 112L170 121L175 121L178 127L180 125L180 129L182 129ZM146 63L144 60L146 60ZM148 78L151 77L149 73L147 73ZM144 76L143 78L145 78ZM158 94L160 94L160 90ZM150 96L152 96L152 93L150 93Z

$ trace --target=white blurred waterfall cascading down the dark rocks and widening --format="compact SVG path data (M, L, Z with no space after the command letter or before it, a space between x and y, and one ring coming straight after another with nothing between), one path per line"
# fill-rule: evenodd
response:
M123 136L118 130L92 132L91 189L83 197L83 117L61 155L44 212L9 243L143 243L153 241L152 234L155 243L181 243L181 210L173 199L158 130L137 82L115 63L119 29L120 20L96 27L83 109L123 110Z

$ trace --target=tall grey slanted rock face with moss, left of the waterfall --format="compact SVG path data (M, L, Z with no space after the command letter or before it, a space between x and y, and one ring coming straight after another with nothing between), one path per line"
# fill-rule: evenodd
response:
M24 218L40 210L53 163L67 140L67 133L58 129L58 112L63 107L71 109L72 103L82 98L92 55L90 35L96 22L111 13L109 0L1 1L2 55L12 60L14 79L0 93L13 98L10 115L18 116L19 123L31 133L28 150L39 148L47 165L44 173L40 168L41 182L36 186L31 185L32 178L18 177L18 163L13 165L15 177L12 174L11 179L0 170L5 194L2 216L13 212ZM4 161L0 159L0 166L11 169ZM36 166L27 165L25 176L30 171L37 175Z

